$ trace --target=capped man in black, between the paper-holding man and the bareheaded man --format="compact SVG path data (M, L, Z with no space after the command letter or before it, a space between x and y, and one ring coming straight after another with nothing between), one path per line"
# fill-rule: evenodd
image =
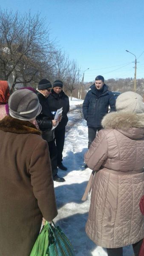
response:
M59 108L63 107L62 119L58 126L55 128L55 143L57 147L58 157L57 165L61 170L66 171L66 166L63 165L63 146L65 139L65 128L68 122L67 113L69 111L69 97L62 90L63 82L60 80L55 80L53 84L52 93L47 98L49 103L49 108L52 112L57 111Z

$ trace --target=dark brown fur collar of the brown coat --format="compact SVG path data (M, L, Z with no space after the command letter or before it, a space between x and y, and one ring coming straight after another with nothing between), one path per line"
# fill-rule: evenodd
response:
M41 131L37 130L35 125L31 122L16 119L11 116L5 116L0 120L0 130L16 134L41 134Z

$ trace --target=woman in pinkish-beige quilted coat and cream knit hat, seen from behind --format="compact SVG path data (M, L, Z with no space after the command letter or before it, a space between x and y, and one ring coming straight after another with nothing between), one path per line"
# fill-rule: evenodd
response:
M139 202L144 195L144 103L133 92L122 93L117 112L102 120L85 163L93 170L82 200L92 189L86 234L107 248L108 256L122 256L132 244L138 256L144 238Z

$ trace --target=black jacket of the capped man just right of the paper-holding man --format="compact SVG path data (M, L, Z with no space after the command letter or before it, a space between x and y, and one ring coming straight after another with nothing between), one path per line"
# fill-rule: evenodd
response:
M55 93L52 89L52 93L47 98L47 101L52 112L57 111L59 108L63 107L62 119L58 126L55 128L55 130L60 131L65 128L68 122L67 113L69 112L69 97L66 96L63 90L60 93Z

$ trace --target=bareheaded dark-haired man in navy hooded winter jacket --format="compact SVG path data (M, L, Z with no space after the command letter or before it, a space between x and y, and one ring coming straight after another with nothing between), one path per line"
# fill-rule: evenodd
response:
M90 89L83 103L84 119L86 119L88 126L88 148L95 139L97 131L101 130L101 120L108 113L109 106L110 111L116 111L115 97L108 90L103 76L97 76L95 78L95 84L92 84Z

